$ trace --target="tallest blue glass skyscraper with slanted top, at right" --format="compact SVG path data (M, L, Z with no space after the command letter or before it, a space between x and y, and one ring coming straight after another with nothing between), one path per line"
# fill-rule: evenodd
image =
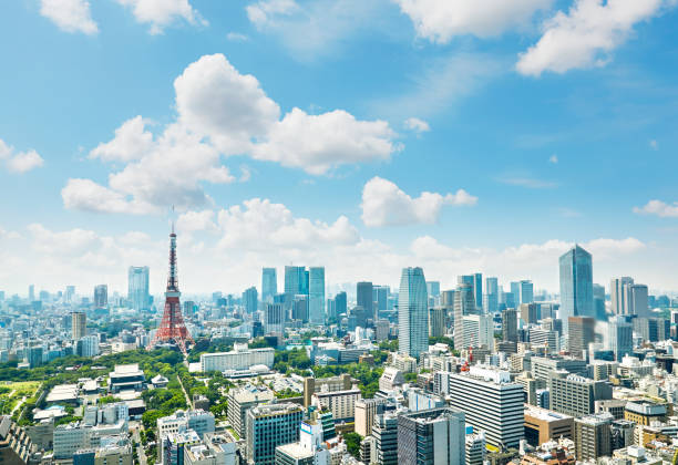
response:
M568 332L569 317L594 317L590 254L578 245L559 258L561 320Z

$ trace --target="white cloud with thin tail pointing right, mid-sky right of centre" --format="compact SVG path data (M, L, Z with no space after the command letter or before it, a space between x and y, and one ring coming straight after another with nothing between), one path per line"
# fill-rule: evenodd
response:
M476 203L477 197L464 189L444 196L423 192L413 198L394 183L376 176L362 189L362 221L368 227L432 224L444 205L472 206Z

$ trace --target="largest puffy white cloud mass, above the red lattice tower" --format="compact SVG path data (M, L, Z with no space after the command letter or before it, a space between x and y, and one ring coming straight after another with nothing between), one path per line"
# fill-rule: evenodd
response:
M309 115L294 108L280 120L278 104L258 80L240 74L223 54L205 55L175 80L176 122L157 136L135 116L99 144L90 158L120 162L107 185L70 179L68 208L147 214L175 205L181 210L212 204L204 184L236 180L222 158L247 155L311 174L363 162L386 161L400 149L384 121L360 121L336 110ZM242 169L240 180L250 176Z

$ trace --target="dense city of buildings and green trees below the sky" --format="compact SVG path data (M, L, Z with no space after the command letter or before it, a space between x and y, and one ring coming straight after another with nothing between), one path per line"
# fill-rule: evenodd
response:
M594 283L578 245L559 293L528 280L405 268L326 294L323 267L164 302L148 267L126 297L0 293L8 463L505 465L675 463L678 301ZM280 291L279 291L280 290ZM4 463L4 462L3 462Z

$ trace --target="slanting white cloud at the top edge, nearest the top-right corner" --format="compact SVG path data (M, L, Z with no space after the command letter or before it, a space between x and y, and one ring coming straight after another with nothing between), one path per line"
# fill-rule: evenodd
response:
M576 0L569 11L558 11L544 23L538 42L520 55L521 74L602 66L626 42L634 25L658 13L672 0Z

